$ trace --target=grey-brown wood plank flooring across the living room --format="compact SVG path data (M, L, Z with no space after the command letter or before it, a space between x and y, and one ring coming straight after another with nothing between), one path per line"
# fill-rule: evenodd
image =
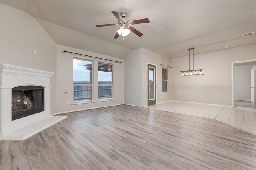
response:
M120 105L1 141L1 170L256 169L256 135L204 117Z

